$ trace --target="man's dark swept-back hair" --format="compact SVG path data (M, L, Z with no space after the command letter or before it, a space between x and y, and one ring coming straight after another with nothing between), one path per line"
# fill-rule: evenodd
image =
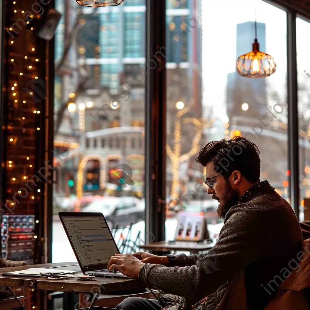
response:
M196 162L204 167L212 162L214 167L219 167L214 170L215 174L222 170L225 179L228 179L232 171L238 170L250 183L259 181L259 149L246 138L212 141L200 150Z

